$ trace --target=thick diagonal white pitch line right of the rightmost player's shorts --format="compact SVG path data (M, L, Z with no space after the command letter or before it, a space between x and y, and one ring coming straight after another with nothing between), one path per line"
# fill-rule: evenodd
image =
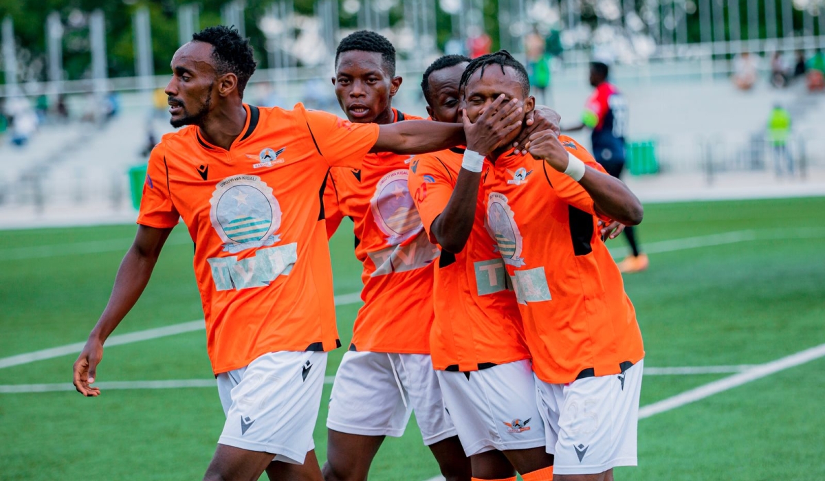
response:
M775 374L780 370L786 370L797 365L802 365L823 356L825 356L825 344L820 344L817 347L811 347L810 349L799 351L796 354L782 357L776 361L755 365L751 369L744 372L729 375L728 377L720 380L715 380L712 383L701 385L698 388L690 389L681 394L676 394L671 398L662 399L657 403L643 406L642 408L639 408L639 419L651 417L658 413L665 413L672 409L681 408L686 404L695 403L700 399L704 399L714 394L727 391L728 389L741 386L742 384Z

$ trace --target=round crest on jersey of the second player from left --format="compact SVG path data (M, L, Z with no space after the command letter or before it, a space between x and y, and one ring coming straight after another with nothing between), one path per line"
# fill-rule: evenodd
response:
M375 224L391 246L403 243L422 229L421 217L407 186L408 172L408 169L389 172L378 182L375 196L370 200Z

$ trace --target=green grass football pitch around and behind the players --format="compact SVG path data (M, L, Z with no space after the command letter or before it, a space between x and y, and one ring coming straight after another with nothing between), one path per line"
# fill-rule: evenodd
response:
M350 227L332 240L337 294L361 286ZM84 341L134 229L0 231L0 358ZM825 343L823 236L825 198L648 205L639 237L651 266L625 278L646 367L761 364ZM115 333L202 318L191 260L191 242L178 227ZM357 308L337 309L345 346ZM342 354L330 354L328 375ZM0 384L70 382L75 358L0 369ZM646 375L642 405L725 376ZM211 377L203 331L107 347L98 370L100 381ZM314 431L322 462L330 387ZM639 467L617 469L615 477L825 479L823 398L820 358L642 419ZM0 394L0 479L200 479L223 423L212 388L111 389L99 398ZM402 438L384 442L371 478L436 474L411 422Z

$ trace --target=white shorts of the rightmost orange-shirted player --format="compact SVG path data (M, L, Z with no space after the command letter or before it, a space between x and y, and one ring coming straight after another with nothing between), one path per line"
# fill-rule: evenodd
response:
M536 379L555 474L598 474L615 466L635 466L636 427L644 361L620 375L569 384Z

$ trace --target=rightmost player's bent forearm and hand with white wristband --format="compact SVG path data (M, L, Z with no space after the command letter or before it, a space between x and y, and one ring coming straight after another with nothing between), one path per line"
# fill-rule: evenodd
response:
M632 191L615 177L584 165L564 149L550 130L530 135L530 153L542 158L550 167L577 180L593 200L596 212L625 225L642 222L642 203ZM583 175L582 175L583 172Z

